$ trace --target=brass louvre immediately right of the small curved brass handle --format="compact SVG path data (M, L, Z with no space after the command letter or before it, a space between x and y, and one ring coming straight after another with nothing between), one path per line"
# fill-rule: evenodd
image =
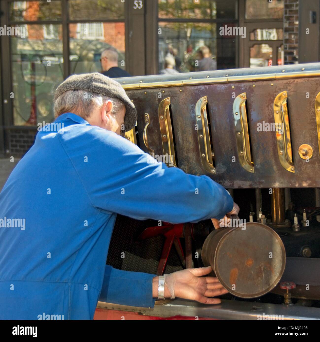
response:
M173 134L172 134L172 126L171 126L171 118L170 118L170 97L165 98L159 104L158 109L158 116L159 116L159 125L160 125L160 132L161 132L161 140L162 140L162 147L163 147L163 154L164 156L168 156L167 159L167 166L174 166L176 165L176 156L175 156L175 147L173 143ZM171 162L169 162L169 160ZM173 165L172 165L173 164Z

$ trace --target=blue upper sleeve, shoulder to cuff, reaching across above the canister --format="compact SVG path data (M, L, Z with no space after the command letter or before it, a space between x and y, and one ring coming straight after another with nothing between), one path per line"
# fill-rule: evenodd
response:
M227 190L209 177L168 168L113 132L91 127L67 148L92 204L105 211L184 223L221 219L233 208Z

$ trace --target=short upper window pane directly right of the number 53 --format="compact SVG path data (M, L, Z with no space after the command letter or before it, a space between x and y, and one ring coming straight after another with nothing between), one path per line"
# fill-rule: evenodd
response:
M158 0L159 18L235 19L235 0Z

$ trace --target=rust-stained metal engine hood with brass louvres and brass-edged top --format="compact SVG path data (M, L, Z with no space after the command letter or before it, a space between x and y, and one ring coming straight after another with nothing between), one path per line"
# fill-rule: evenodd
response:
M228 188L320 187L320 63L117 81L145 152ZM268 131L275 123L283 134Z

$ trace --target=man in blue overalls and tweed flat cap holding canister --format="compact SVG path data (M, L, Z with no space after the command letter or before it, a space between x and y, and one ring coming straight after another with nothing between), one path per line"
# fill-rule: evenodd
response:
M163 279L105 262L117 213L171 223L221 219L239 211L229 193L207 176L151 162L121 137L137 111L106 76L66 79L54 111L0 194L0 319L92 319L99 298L144 307L175 296L219 303L210 297L227 291L202 277L210 267Z

